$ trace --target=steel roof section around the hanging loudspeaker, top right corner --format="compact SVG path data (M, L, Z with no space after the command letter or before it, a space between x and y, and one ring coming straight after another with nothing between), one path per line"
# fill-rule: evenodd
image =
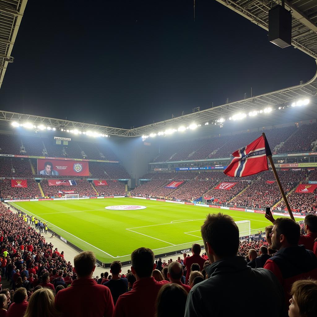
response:
M217 0L268 30L268 10L279 0ZM292 45L317 59L317 2L315 0L285 0L292 11Z

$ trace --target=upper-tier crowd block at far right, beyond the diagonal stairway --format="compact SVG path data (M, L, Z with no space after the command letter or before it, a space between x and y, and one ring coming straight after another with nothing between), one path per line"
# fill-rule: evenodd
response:
M317 140L317 124L304 124L300 126L279 149L278 153L311 152L312 142Z

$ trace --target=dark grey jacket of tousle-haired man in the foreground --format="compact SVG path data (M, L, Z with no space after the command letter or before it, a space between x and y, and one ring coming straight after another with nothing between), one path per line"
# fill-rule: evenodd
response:
M185 317L245 317L256 312L267 317L263 296L269 300L270 317L283 316L284 291L275 275L264 268L250 268L242 256L219 260L206 269L209 279L188 294Z

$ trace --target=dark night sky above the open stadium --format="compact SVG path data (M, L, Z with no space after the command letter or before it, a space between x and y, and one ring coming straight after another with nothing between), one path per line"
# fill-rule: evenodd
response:
M311 79L267 33L213 0L29 0L0 108L130 128Z

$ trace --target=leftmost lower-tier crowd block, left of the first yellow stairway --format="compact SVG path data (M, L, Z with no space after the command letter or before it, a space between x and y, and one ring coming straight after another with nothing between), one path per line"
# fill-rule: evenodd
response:
M36 198L42 197L38 184L32 178L27 179L27 186L25 188L11 187L10 179L0 180L1 196L6 199L13 198Z

